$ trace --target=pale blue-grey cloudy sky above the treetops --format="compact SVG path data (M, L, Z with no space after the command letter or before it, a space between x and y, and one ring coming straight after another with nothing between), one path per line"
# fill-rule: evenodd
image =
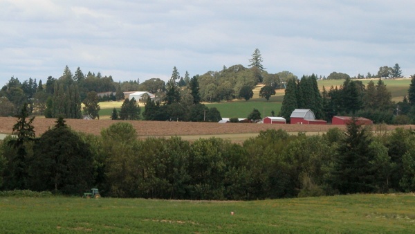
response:
M0 85L65 66L114 81L248 66L268 73L415 74L413 0L0 0Z

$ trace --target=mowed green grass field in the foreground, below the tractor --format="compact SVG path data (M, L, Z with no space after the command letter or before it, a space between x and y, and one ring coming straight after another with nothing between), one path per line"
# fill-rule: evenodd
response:
M412 194L264 201L0 197L0 209L1 233L414 233L415 230Z

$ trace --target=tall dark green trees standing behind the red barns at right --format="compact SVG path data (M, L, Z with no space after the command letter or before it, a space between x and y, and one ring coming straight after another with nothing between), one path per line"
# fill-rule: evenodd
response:
M395 103L382 79L371 80L367 86L360 80L347 78L340 87L323 87L320 93L316 75L286 84L280 116L290 119L294 109L311 109L316 118L331 122L333 116L359 116L374 123L415 123L415 75L412 75L408 96Z

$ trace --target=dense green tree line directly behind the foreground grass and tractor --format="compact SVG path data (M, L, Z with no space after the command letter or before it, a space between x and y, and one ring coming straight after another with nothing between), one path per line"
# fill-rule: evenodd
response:
M415 133L383 125L296 136L268 129L242 144L221 138L138 139L116 122L100 136L73 132L58 118L35 137L21 112L0 143L1 190L80 196L251 200L415 190ZM371 131L375 130L375 131Z

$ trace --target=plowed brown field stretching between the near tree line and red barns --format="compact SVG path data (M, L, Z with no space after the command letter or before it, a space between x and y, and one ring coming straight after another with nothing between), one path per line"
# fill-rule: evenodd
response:
M55 125L55 119L35 118L33 126L37 136ZM17 118L0 117L0 133L11 134ZM344 129L342 125L270 125L254 123L194 123L194 122L158 122L158 121L124 121L131 123L138 136L187 136L259 133L266 129L284 129L286 132L326 132L332 127ZM66 124L77 132L98 135L101 129L117 123L116 120L77 120L66 119ZM388 130L396 127L415 129L415 125L387 126Z

